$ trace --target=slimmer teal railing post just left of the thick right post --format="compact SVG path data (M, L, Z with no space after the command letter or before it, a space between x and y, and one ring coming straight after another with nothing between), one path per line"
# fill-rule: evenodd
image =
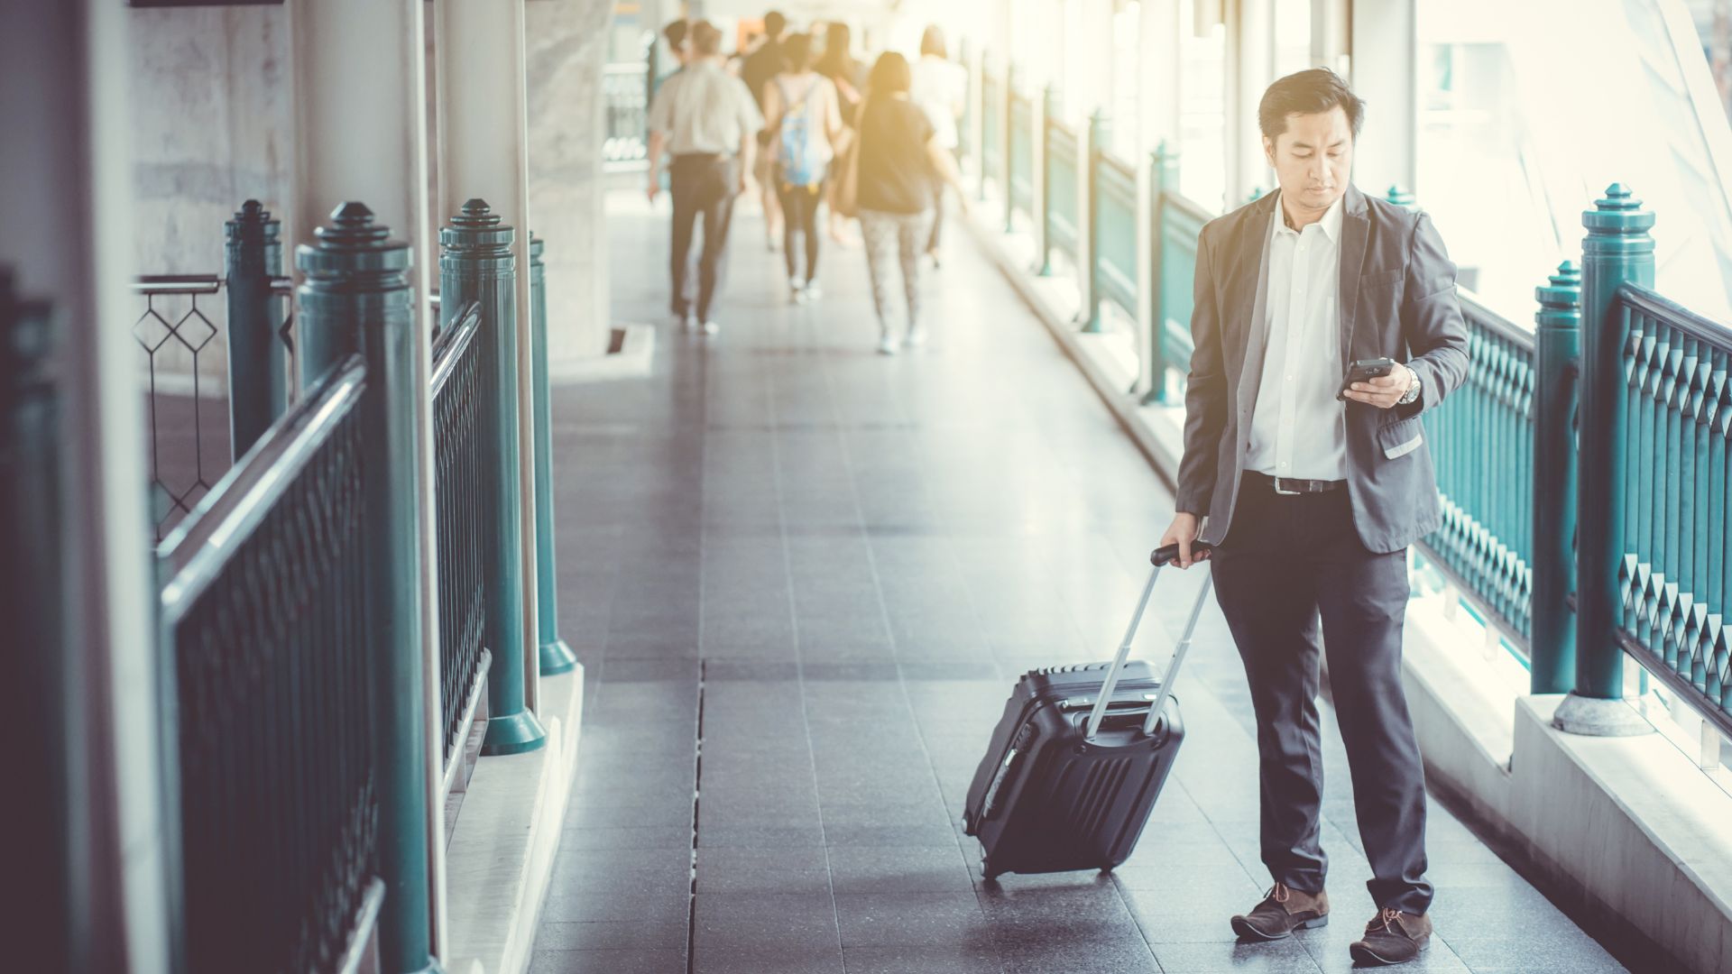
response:
M1391 189L1394 203L1394 189ZM1576 378L1581 274L1569 260L1535 288L1533 634L1529 693L1566 693L1576 678Z

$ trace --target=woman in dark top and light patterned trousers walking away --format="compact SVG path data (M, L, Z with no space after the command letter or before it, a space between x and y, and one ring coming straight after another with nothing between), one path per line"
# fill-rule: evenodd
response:
M920 256L932 239L932 210L937 203L935 185L956 187L956 196L966 210L956 161L939 144L937 132L927 113L909 99L911 71L908 59L889 52L873 64L866 83L866 101L861 106L856 156L849 161L852 184L843 192L843 206L859 213L861 232L866 237L866 270L871 274L871 296L878 308L878 352L895 355L897 341L892 321L897 317L892 303L894 267L902 270L902 296L908 302L908 331L902 345L913 348L927 340L920 319Z

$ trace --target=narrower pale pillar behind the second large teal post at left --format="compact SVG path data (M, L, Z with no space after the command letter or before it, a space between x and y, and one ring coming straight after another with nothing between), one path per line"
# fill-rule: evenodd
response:
M501 222L516 227L516 352L518 352L518 546L521 579L535 579L535 373L530 328L530 140L528 73L523 0L438 0L440 215L452 217L464 199L487 199ZM589 232L604 234L598 224ZM603 319L604 321L604 319ZM523 591L521 633L511 652L523 655L523 697L533 711L540 653L535 645L535 586ZM502 652L494 648L494 652Z

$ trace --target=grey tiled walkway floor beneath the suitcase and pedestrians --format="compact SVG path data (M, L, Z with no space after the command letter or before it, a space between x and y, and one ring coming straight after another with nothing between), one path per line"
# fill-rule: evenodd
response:
M1171 499L965 237L928 288L934 347L880 359L857 248L790 307L762 225L738 224L719 338L663 324L655 378L556 392L563 631L591 700L533 971L1346 969L1373 905L1332 723L1335 922L1228 929L1266 873L1212 605L1131 861L979 879L960 816L1005 695L1110 653ZM620 201L611 225L617 317L663 321L663 217ZM1162 579L1140 652L1164 659L1197 584ZM1439 938L1413 967L1621 971L1436 804L1431 854Z

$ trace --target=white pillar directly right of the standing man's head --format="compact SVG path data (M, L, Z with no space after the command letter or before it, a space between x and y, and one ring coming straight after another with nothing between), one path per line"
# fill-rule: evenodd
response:
M1360 3L1353 9L1353 90L1370 102L1353 147L1353 175L1367 192L1413 189L1419 90L1415 0Z

